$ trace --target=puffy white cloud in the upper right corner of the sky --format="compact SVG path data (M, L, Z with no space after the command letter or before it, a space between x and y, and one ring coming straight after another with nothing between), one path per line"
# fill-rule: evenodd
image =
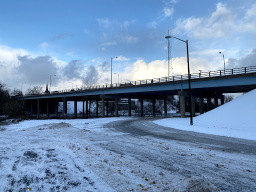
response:
M174 34L183 32L195 38L227 37L240 32L256 30L256 5L244 12L243 18L236 18L231 8L222 3L216 4L216 9L209 17L179 18Z

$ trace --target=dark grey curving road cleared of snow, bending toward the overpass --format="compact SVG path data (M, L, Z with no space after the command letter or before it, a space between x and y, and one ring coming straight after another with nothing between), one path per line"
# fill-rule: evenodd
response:
M226 152L256 154L256 141L254 140L179 130L152 122L160 118L164 117L131 117L127 120L107 123L104 127L115 129L131 136L153 136L167 140L191 142L198 146Z

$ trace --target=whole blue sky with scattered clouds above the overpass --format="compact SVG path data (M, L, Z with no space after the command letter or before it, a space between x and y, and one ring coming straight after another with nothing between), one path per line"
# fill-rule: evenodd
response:
M191 72L256 65L254 0L10 0L0 6L0 80L13 88L167 75L166 39L188 40ZM174 74L185 43L171 39ZM245 62L246 61L246 62Z

